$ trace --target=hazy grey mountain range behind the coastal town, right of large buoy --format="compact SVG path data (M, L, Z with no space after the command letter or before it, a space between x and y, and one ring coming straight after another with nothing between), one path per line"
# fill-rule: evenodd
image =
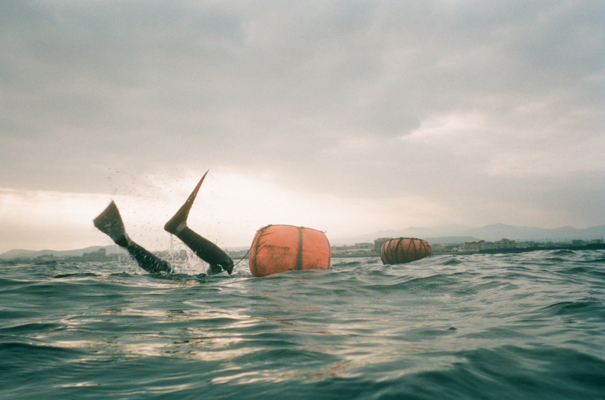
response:
M330 237L332 245L350 245L361 242L373 242L379 237L419 237L430 244L463 243L466 240L488 240L490 242L500 239L535 240L543 242L563 242L569 240L605 239L605 225L577 229L562 227L555 229L518 227L506 224L491 224L480 228L463 227L461 225L440 225L437 227L422 228L409 227L401 230L383 230L374 233L350 237Z

